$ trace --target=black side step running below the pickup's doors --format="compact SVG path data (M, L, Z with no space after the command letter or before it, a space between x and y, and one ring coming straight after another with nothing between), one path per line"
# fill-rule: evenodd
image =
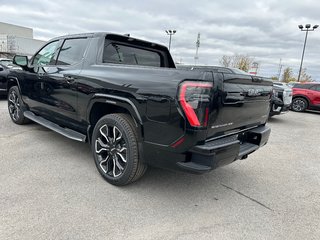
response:
M32 121L34 121L36 123L39 123L40 125L42 125L42 126L44 126L46 128L51 129L52 131L60 133L61 135L65 136L67 138L70 138L72 140L76 140L76 141L79 141L79 142L85 142L86 141L86 138L87 138L86 135L81 134L79 132L76 132L74 130L71 130L69 128L60 127L58 124L50 122L49 120L44 119L43 117L37 116L33 112L25 111L23 113L23 115L26 118L29 118L30 120L32 120Z

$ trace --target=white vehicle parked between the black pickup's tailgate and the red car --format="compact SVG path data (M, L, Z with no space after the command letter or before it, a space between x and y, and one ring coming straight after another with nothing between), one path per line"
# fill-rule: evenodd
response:
M292 102L292 89L283 82L273 82L273 94L270 102L270 114L279 115L287 113Z

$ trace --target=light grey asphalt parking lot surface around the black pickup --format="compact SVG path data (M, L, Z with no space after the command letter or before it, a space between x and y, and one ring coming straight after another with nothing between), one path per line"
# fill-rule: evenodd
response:
M0 239L320 239L320 114L270 120L267 146L205 175L114 187L89 145L11 122L0 99Z

